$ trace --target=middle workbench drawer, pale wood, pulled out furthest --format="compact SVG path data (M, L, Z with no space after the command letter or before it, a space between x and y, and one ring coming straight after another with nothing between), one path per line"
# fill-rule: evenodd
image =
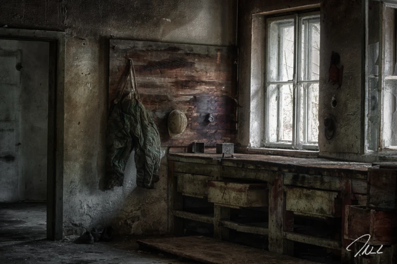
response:
M208 181L208 201L226 207L268 206L267 184Z

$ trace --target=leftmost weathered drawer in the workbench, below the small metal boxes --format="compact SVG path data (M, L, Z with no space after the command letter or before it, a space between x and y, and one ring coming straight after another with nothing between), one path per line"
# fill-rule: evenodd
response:
M182 195L205 198L208 195L208 180L211 176L175 172L177 191Z

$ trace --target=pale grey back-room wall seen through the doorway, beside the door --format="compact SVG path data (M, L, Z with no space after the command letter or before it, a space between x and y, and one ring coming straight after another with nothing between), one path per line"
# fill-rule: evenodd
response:
M0 49L20 51L18 200L46 200L49 44L0 40ZM15 69L15 65L9 67ZM7 186L5 187L7 188ZM1 192L1 191L0 191Z

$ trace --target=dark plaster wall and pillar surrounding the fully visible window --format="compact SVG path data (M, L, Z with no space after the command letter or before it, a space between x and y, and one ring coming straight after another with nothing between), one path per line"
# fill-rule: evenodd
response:
M256 52L255 45L252 46L252 15L280 10L289 12L302 6L316 4L321 4L320 155L341 159L365 160L360 156L362 2L359 0L239 1L237 32L240 49L239 104L241 107L239 108L238 119L238 144L254 147L260 145L260 138L255 135L250 136L250 125L251 129L252 126L255 127L256 125L252 122L253 113L258 111L256 109L261 109L258 107L258 102L252 100L261 83L259 77L251 78L251 73L258 69L258 67L251 68L251 56ZM264 23L256 19L255 16L254 18L254 30L255 27L262 27L264 30ZM257 37L254 36L253 39L257 41ZM332 85L328 81L332 51L340 54L341 65L344 66L343 83L338 90L338 85ZM261 54L259 53L258 56L261 56ZM260 89L262 89L261 87ZM338 102L335 108L331 106L333 96ZM336 123L336 133L330 141L324 136L324 119L327 117L332 117Z

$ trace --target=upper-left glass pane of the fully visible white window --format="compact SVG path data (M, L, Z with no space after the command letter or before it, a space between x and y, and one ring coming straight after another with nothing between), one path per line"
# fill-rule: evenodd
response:
M294 75L294 20L268 25L268 81L292 80Z

